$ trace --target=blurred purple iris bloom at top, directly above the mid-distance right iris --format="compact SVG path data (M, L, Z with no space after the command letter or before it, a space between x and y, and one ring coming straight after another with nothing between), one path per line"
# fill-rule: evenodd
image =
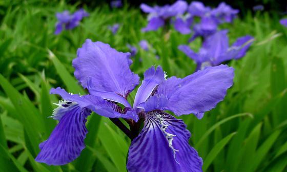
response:
M217 8L204 6L203 3L194 1L188 7L189 15L179 16L175 20L175 29L181 34L193 33L189 41L198 36L207 37L217 31L218 25L231 23L239 10L232 9L225 3L220 3ZM195 23L194 17L199 17L199 23ZM191 29L192 28L192 29Z

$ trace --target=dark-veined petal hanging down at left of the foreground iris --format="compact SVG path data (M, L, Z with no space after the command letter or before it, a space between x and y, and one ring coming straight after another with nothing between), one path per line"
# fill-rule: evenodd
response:
M41 151L35 160L48 165L64 165L75 160L85 148L86 118L90 113L79 105L72 106L48 140L39 145Z

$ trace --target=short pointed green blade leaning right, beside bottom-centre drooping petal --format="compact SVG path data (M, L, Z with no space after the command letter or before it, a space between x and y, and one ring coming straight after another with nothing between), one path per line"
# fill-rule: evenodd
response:
M222 140L220 140L210 151L207 158L204 160L202 170L206 171L212 161L215 159L215 157L218 155L220 150L230 141L230 139L235 135L236 133L231 133L227 137L224 137Z

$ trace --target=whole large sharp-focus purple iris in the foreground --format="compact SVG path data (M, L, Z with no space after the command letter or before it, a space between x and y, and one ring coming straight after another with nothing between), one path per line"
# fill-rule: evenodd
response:
M51 89L51 94L64 100L53 112L59 123L48 140L39 145L36 161L63 165L76 159L85 148L86 118L94 111L112 119L129 119L131 131L127 130L134 134L127 134L132 139L129 171L202 171L202 159L189 145L191 135L185 123L165 111L202 118L232 86L233 68L220 65L185 78L166 79L161 67L151 67L131 105L127 97L139 84L138 75L130 70L131 63L130 53L86 40L77 51L73 67L75 77L90 94L79 96L61 88Z

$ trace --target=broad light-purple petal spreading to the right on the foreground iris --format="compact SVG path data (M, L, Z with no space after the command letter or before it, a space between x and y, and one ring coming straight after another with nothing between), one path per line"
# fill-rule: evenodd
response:
M227 65L207 67L185 78L171 77L157 88L159 96L166 96L166 110L177 116L191 114L201 118L223 100L233 84L234 69Z

